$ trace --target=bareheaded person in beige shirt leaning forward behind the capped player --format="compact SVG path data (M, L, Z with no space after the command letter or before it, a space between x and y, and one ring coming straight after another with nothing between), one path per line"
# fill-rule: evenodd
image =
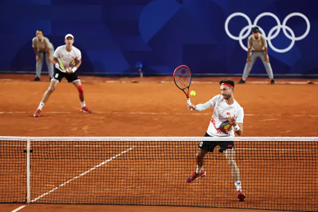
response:
M53 63L51 63L51 58L53 57L54 47L50 40L43 36L42 29L36 30L36 37L32 39L32 48L34 48L34 52L36 54L36 76L34 81L40 81L44 54L51 80L53 77Z

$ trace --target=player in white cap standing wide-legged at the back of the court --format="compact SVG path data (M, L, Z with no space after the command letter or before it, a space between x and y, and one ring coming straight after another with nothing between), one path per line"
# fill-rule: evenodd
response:
M61 82L64 77L69 83L73 83L79 91L79 99L81 103L80 111L83 113L91 113L85 105L83 86L81 85L80 79L76 73L81 64L81 52L78 48L73 46L74 36L72 34L67 34L64 41L66 45L59 46L53 54L52 63L55 65L54 76L48 90L43 95L40 105L33 114L34 117L40 116L43 106L48 101L58 83ZM57 62L57 59L60 60L60 63ZM64 68L65 72L62 72L61 70L64 70Z

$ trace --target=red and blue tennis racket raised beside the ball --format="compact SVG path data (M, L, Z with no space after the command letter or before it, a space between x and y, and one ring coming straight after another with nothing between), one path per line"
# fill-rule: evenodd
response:
M186 65L176 67L173 72L174 84L185 94L187 103L191 105L189 98L189 88L192 80L192 73Z

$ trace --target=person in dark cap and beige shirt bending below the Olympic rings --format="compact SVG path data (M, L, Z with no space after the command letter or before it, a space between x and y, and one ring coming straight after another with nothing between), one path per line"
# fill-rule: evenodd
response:
M256 59L261 58L271 84L275 84L274 75L272 67L269 63L268 53L267 53L267 43L264 35L260 34L257 26L252 28L252 35L248 37L248 47L247 47L247 60L243 72L242 79L240 79L239 84L244 84L250 70Z

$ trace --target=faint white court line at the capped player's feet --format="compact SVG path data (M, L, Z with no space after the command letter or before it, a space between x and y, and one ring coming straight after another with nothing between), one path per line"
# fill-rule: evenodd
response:
M26 111L0 111L0 114L33 114L33 112L26 112ZM48 112L42 112L42 113L53 113L53 114L70 114L70 113L78 113L77 111L48 111ZM182 112L116 112L116 111L94 111L93 113L96 114L136 114L136 115L211 115L212 113L182 113ZM284 114L253 114L253 113L246 113L245 116L284 116ZM286 114L287 116L288 114ZM318 115L315 114L293 114L288 115L292 117L318 117Z

